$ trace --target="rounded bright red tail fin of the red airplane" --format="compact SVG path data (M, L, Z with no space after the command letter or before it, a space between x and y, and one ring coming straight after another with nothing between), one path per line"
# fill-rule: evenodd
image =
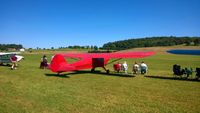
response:
M53 72L58 72L60 70L60 68L62 67L62 65L66 64L66 63L67 63L67 61L61 54L56 54L53 57L51 64L49 65L49 68Z

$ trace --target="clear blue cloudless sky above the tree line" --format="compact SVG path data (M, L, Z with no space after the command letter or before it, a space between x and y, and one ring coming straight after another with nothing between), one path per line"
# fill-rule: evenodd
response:
M96 45L200 36L200 0L0 0L0 44Z

